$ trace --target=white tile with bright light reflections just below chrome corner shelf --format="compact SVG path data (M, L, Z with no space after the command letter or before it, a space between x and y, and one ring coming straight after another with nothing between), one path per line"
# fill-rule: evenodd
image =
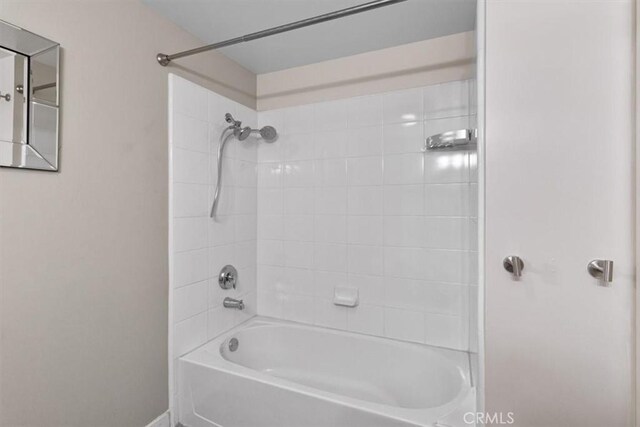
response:
M424 181L433 184L468 182L469 153L427 151L424 155Z

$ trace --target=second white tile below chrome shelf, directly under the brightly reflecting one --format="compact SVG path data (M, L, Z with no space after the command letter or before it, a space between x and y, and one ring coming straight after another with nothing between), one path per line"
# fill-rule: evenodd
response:
M469 214L469 184L429 184L424 187L425 215Z

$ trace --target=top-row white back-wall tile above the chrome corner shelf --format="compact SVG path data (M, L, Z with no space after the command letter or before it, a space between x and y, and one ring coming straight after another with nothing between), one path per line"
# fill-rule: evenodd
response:
M469 82L443 83L424 88L424 118L465 116L469 114Z

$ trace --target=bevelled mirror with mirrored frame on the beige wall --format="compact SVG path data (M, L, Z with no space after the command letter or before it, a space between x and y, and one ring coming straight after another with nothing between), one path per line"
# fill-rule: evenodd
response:
M0 21L0 166L58 170L60 45Z

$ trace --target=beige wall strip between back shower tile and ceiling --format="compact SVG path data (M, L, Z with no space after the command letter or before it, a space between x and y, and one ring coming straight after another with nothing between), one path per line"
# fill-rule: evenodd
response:
M474 32L258 75L258 110L428 86L475 76Z

